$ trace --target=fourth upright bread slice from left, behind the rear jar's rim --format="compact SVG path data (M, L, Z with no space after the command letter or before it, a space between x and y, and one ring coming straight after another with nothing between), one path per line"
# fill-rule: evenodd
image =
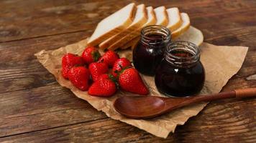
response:
M159 7L155 8L154 11L155 11L155 16L157 18L156 25L167 26L168 25L168 15L167 15L165 6L159 6Z

